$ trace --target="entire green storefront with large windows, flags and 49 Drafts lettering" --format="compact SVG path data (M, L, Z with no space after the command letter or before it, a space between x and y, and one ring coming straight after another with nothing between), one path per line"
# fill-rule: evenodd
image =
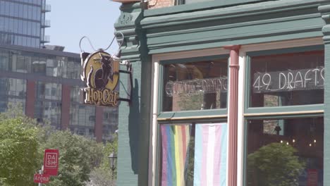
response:
M118 111L117 185L330 185L329 0L147 7L125 1L115 24L125 37L121 58L133 68L133 101ZM121 75L121 97L127 81ZM197 150L197 130L209 123L225 125L226 157L204 182L197 154L201 165L218 162ZM173 147L173 159L185 149L182 166L164 143L177 126L189 131ZM203 147L214 144L216 154L219 137Z

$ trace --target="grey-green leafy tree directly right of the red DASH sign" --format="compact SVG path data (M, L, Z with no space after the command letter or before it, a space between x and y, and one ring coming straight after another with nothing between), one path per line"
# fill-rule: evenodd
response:
M42 149L59 149L59 175L49 185L80 186L102 158L102 145L69 131L51 133Z

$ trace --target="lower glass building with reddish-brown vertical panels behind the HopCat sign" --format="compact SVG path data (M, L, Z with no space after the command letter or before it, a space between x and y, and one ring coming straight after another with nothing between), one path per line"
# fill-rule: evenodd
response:
M27 116L56 130L112 140L118 109L81 104L80 87L79 54L0 45L0 112L20 103Z

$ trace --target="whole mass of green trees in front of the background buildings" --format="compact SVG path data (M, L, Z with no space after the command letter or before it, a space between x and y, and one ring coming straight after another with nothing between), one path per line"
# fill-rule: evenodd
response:
M43 163L44 149L59 149L59 175L50 186L82 186L90 180L112 183L109 168L114 142L97 144L70 131L56 131L23 114L21 106L0 113L0 186L36 185L33 175ZM116 175L116 173L114 174Z

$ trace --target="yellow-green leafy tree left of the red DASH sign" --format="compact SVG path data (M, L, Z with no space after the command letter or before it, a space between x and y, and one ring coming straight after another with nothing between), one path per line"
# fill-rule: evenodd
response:
M39 163L38 128L23 118L0 120L0 182L2 185L33 185Z

